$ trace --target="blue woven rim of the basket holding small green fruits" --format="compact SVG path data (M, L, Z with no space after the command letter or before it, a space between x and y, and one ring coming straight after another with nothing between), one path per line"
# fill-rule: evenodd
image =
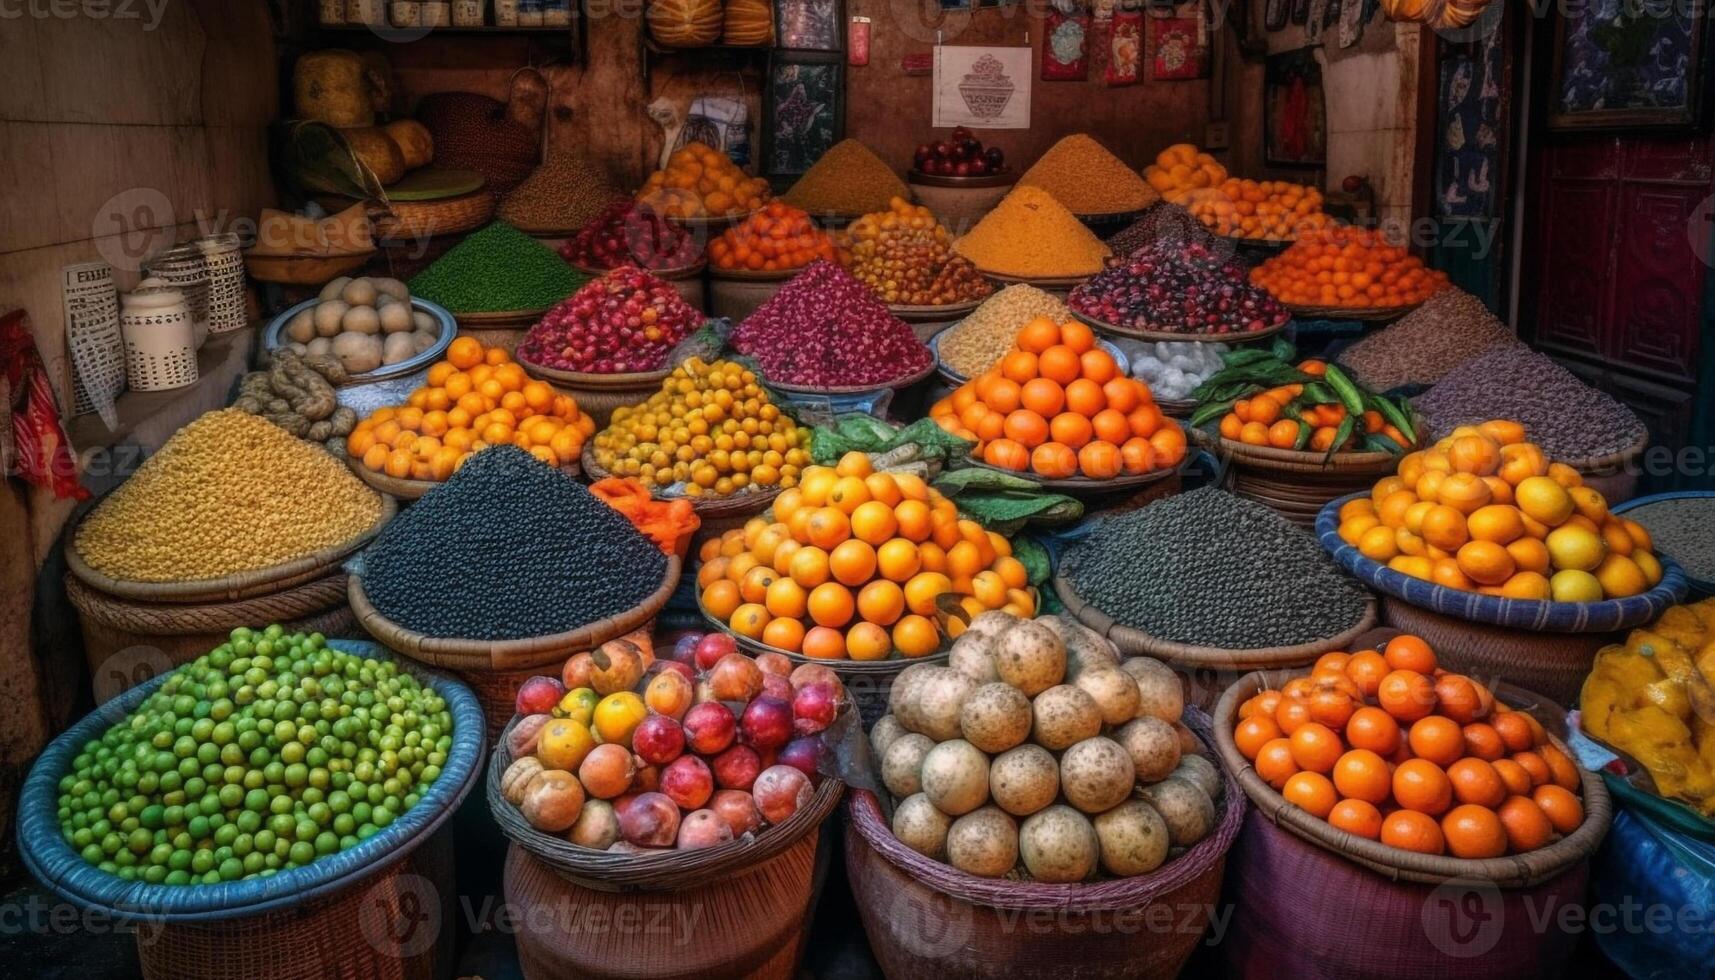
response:
M329 645L369 659L391 659L379 644L329 640ZM17 843L24 865L65 901L118 916L149 916L161 922L218 922L298 906L372 877L408 855L453 815L482 774L484 721L477 695L448 675L425 671L396 659L446 699L453 714L453 748L441 776L415 807L367 841L348 851L280 874L218 884L168 886L129 882L103 872L79 855L60 834L60 777L91 738L127 716L166 683L165 673L103 704L36 759L19 795Z

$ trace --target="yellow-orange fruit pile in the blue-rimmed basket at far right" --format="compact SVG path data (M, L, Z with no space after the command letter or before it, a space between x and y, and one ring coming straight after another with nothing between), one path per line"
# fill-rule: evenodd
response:
M1511 420L1461 426L1399 458L1339 508L1339 537L1394 572L1449 589L1595 602L1662 580L1650 532L1549 460Z

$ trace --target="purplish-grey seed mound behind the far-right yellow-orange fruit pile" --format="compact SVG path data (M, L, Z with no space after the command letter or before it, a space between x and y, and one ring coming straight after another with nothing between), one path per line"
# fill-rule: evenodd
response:
M1643 419L1528 347L1485 354L1413 400L1434 438L1490 419L1525 424L1550 458L1617 453L1645 436Z

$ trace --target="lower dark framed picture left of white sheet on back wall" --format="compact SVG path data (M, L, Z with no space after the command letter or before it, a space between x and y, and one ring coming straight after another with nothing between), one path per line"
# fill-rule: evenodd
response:
M845 60L777 53L763 89L763 172L796 177L845 136Z

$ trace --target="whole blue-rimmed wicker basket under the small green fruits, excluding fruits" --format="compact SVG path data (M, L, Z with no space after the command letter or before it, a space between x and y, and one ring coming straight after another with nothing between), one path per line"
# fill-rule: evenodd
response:
M334 645L365 657L384 656L369 642ZM36 759L17 810L24 865L79 908L139 922L139 954L151 978L432 977L432 947L451 932L444 929L451 920L429 920L429 906L451 887L441 872L446 862L418 848L480 777L482 711L458 681L401 666L446 699L454 719L453 748L422 800L352 850L266 879L214 886L127 882L84 862L60 836L60 777L91 738L170 676L161 675L86 716ZM151 934L159 942L146 944Z

